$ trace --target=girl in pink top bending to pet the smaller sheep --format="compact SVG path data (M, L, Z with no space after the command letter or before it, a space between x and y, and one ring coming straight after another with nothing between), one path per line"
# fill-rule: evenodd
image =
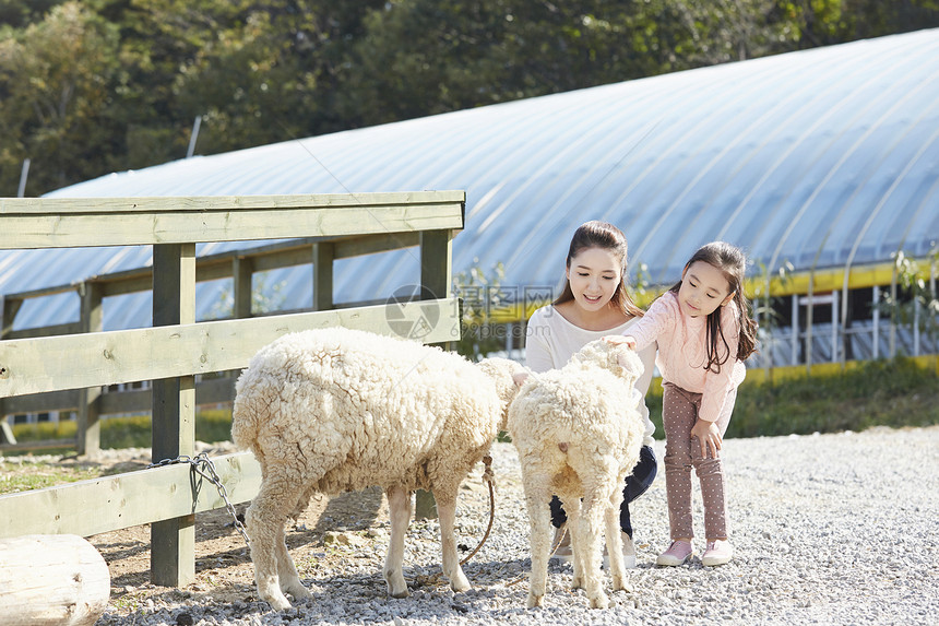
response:
M637 350L658 343L671 531L671 545L658 556L658 565L681 565L694 552L692 466L704 504L708 544L701 562L723 565L734 556L727 541L720 450L737 387L746 376L744 361L756 345L757 324L744 296L745 270L746 257L738 248L723 241L708 244L685 265L681 281L656 299L625 336L607 338Z

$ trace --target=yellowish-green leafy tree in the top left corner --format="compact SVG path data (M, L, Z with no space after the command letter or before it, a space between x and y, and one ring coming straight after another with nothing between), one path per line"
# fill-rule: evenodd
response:
M14 190L32 160L27 193L102 173L115 135L108 111L117 28L79 2L55 7L0 42L0 185ZM12 194L12 193L11 193Z

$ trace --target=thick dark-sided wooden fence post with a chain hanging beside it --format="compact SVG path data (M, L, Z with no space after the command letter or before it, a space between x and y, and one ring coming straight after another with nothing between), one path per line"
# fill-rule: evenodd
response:
M195 245L153 247L153 326L195 321ZM195 448L195 377L153 381L153 460ZM151 580L183 587L195 579L195 515L151 525Z

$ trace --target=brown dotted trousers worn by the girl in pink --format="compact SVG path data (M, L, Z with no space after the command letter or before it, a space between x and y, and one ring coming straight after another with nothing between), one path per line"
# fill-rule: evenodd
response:
M721 436L727 430L737 390L727 393L724 410L717 418ZM721 458L701 456L701 444L691 437L698 421L701 394L686 391L671 382L663 383L662 422L665 426L665 487L668 494L668 522L671 539L693 538L691 519L691 468L701 483L704 503L704 536L727 538L727 497L724 491L724 466Z

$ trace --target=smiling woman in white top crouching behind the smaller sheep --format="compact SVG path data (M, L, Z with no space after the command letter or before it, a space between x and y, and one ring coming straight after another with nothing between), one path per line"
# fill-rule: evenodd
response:
M536 373L563 367L571 355L586 343L610 333L628 332L642 317L627 292L626 237L616 226L604 222L587 222L574 232L568 250L564 288L551 305L537 309L528 320L525 361ZM645 366L644 375L635 381L635 391L645 397L652 380L655 345L640 352ZM642 495L655 479L657 464L653 452L655 426L649 420L644 402L639 403L645 413L645 439L639 464L626 480L620 508L623 562L635 567L635 548L632 543L632 523L629 503ZM551 522L561 529L567 521L561 501L551 500ZM557 541L560 530L556 530ZM556 556L571 556L569 535L558 546Z

